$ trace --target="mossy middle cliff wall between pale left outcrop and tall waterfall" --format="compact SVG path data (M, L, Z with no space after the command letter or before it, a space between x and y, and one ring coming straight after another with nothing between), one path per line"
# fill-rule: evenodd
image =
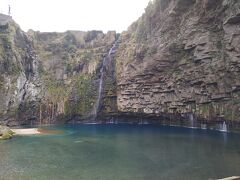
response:
M103 59L117 34L102 31L28 32L43 82L39 121L91 119L97 101Z

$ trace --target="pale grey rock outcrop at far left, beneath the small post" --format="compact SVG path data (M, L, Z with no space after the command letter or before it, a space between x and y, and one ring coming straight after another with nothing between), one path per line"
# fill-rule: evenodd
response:
M9 16L0 15L1 122L14 123L24 102L38 101L41 85L33 44ZM29 109L29 114L34 110Z

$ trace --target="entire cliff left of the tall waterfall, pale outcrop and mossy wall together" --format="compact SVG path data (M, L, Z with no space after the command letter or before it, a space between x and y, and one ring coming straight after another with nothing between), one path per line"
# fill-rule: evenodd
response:
M102 61L116 38L115 32L101 31L25 33L1 14L1 123L50 124L90 117Z

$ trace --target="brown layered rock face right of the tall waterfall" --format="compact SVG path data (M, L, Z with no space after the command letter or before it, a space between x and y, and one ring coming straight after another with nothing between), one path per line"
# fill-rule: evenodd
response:
M240 120L240 2L155 0L121 34L121 112Z

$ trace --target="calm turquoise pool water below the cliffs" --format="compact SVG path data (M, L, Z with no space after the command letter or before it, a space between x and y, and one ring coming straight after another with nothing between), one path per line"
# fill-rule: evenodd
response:
M0 179L159 180L240 175L240 135L153 125L54 126L0 142Z

